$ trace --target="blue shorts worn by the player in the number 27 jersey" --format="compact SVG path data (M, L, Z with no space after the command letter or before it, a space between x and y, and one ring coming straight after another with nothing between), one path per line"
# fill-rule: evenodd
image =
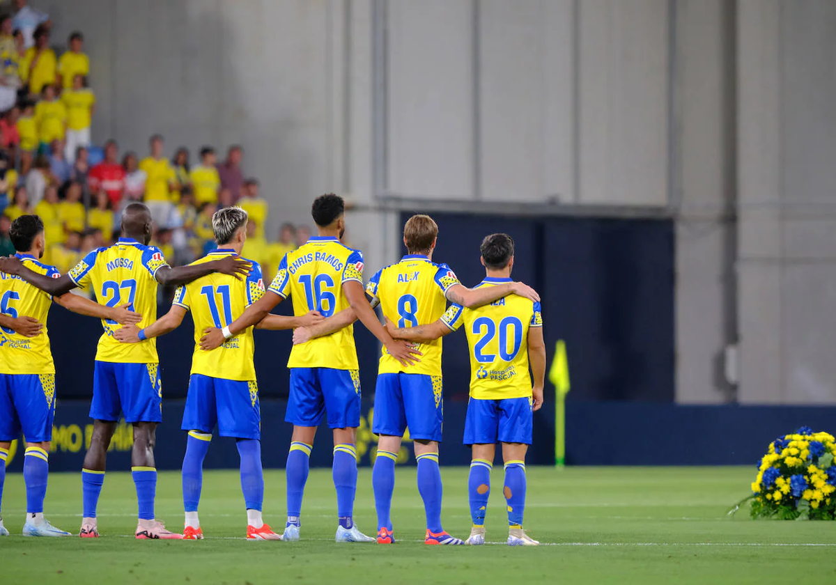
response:
M128 423L162 422L160 364L115 364L96 360L90 418Z

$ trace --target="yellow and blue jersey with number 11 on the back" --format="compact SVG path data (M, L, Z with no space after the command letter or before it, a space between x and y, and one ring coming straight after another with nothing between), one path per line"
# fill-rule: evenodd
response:
M203 264L235 255L232 248L219 248L192 264ZM247 280L238 280L216 272L178 287L174 293L174 304L191 311L191 318L195 322L195 353L191 358L191 374L240 381L256 379L256 367L252 363L255 353L252 327L227 339L219 348L204 351L200 343L204 329L227 327L241 316L244 309L263 297L261 267L257 262L250 262L252 271Z

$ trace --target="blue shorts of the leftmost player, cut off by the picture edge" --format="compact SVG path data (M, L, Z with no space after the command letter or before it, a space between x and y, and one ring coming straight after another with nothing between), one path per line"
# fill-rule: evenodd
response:
M0 440L52 440L55 374L0 374Z

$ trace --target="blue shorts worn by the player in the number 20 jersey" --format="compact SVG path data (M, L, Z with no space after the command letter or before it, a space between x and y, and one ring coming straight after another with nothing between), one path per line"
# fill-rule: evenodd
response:
M531 445L533 411L530 398L480 400L467 403L465 445L525 443Z

